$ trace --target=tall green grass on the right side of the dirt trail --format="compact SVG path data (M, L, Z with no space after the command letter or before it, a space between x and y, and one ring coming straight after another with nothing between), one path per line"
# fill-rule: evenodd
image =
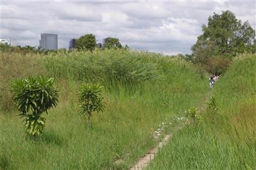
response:
M236 59L212 91L219 110L176 133L147 169L256 169L256 56ZM212 120L214 118L214 120Z

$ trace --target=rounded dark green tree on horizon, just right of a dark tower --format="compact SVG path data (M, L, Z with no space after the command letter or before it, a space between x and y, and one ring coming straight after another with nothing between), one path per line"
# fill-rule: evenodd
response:
M83 35L76 40L76 49L93 51L96 47L95 35Z

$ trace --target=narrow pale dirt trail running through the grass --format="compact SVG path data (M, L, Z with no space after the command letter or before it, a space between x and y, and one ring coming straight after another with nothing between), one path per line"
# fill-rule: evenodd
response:
M208 100L208 98L211 96L211 91L209 91L205 97L204 100L202 100L202 102L200 102L198 111L199 112L203 112L205 109L205 102ZM144 157L141 157L138 159L138 161L136 162L136 164L134 164L130 170L143 170L145 169L150 162L154 159L154 157L156 157L158 151L163 148L168 141L170 141L170 139L172 139L172 135L174 132L179 131L180 129L182 129L184 126L182 125L177 125L176 127L174 127L174 130L172 133L167 134L164 136L164 138L157 144L157 146L155 146L154 148L151 148L150 150L148 150L147 154L144 155Z

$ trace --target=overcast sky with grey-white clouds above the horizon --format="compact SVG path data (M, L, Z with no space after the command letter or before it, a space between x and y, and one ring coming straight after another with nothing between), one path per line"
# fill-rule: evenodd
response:
M255 1L40 1L1 0L1 38L39 45L41 33L58 34L59 48L92 33L132 49L190 53L209 15L230 10L256 27Z

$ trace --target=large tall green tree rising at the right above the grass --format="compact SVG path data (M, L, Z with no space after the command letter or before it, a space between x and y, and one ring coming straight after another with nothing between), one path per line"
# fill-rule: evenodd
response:
M202 26L203 34L191 50L196 63L205 64L211 56L236 56L236 53L255 52L255 30L246 21L236 19L230 11L221 15L214 13L208 18L207 26Z

